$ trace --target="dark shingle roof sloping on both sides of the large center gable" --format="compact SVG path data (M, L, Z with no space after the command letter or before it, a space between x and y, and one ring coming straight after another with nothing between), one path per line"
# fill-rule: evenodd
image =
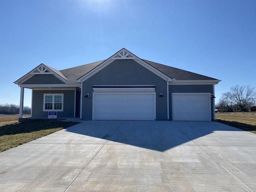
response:
M144 60L144 59L142 59L142 60L172 79L176 79L176 80L217 80L215 78L211 78L208 76L196 74L196 73L189 72L186 70L159 64L159 63L152 62L149 60ZM90 63L90 64L85 64L85 65L81 65L81 66L77 66L77 67L73 67L73 68L68 68L68 69L64 69L64 70L60 70L60 71L56 70L56 71L57 71L57 74L59 74L60 76L62 76L65 79L67 79L68 81L76 81L80 77L84 76L85 74L87 74L88 72L90 72L91 70L96 68L98 65L102 64L102 62L104 62L104 61L105 60L101 60L101 61ZM53 68L50 68L50 69L54 70Z

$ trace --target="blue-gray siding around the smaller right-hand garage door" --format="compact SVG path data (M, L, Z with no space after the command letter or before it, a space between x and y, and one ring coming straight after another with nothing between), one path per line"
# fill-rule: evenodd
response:
M169 85L169 117L172 120L172 93L213 93L214 85ZM211 116L214 120L214 103L211 99Z

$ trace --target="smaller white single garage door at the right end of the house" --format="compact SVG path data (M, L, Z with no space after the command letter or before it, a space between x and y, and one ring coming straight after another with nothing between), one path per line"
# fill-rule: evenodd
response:
M210 121L210 94L172 94L174 121Z

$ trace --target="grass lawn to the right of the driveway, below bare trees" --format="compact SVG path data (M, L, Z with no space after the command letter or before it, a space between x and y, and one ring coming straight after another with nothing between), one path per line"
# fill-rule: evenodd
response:
M216 113L216 120L256 134L256 112Z

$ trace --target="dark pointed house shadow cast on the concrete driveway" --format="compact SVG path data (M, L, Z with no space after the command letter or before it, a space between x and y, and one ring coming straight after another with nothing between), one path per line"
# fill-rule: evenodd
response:
M66 131L163 152L215 131L242 130L218 122L84 121Z

